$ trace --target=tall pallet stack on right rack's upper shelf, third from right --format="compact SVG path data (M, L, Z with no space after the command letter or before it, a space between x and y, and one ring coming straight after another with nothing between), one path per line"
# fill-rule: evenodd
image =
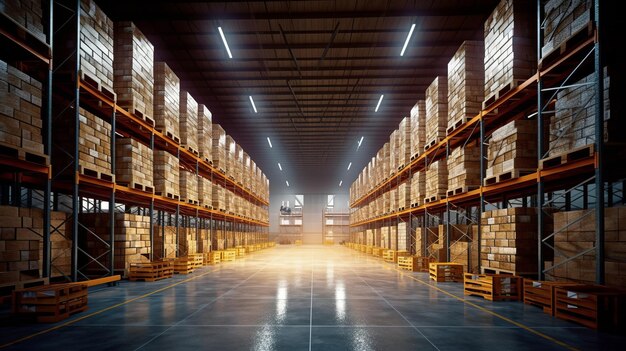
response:
M478 115L484 100L485 47L464 41L448 62L448 127L446 134Z

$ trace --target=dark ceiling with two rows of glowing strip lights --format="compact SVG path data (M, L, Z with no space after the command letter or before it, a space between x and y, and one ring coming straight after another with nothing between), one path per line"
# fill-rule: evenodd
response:
M166 61L182 88L209 107L278 193L287 190L285 180L307 193L340 191L340 180L347 189L434 77L447 74L460 44L482 39L497 3L98 1L113 20L141 28L155 60Z

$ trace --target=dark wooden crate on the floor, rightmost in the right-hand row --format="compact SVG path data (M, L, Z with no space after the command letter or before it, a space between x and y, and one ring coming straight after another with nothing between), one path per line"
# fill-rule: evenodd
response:
M626 330L626 294L598 285L555 288L557 318L599 330Z

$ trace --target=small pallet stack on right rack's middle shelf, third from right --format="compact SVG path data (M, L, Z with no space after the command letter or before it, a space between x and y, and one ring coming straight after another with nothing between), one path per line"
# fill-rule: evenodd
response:
M452 196L480 186L480 141L457 147L448 156L448 191Z

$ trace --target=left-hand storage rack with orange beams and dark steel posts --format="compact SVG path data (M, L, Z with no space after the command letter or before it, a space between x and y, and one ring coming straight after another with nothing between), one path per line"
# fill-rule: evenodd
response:
M72 248L71 267L56 269L57 273L71 281L87 280L98 276L113 275L115 272L115 213L132 213L148 216L150 220L150 257L164 257L164 252L156 252L154 244L158 236L166 230L174 230L176 235L175 255L184 255L178 247L179 231L185 225L194 230L196 238L199 229L208 230L209 248L217 249L221 238L226 247L237 244L255 244L269 239L268 223L229 213L194 203L185 203L175 198L158 196L152 192L135 189L115 183L115 138L116 134L131 137L149 145L151 150L165 150L179 158L181 164L194 169L212 183L219 184L243 197L254 205L267 209L267 199L253 193L250 188L229 178L214 168L207 160L200 158L164 133L155 129L150 120L121 108L116 104L115 95L100 89L82 77L80 72L80 0L60 0L45 3L44 23L47 24L48 42L43 43L11 19L0 14L0 43L3 46L0 59L17 62L20 68L44 84L43 94L43 140L48 158L24 158L17 152L3 152L0 156L2 172L3 204L20 206L40 201L43 207L43 257L41 275L50 277L54 257L51 257L51 234L60 226L71 227ZM4 48L7 48L5 50ZM52 55L54 53L54 61ZM111 124L111 170L110 175L94 174L81 169L78 154L79 110L83 108L97 118ZM71 130L53 134L56 123L69 123ZM73 147L62 148L68 141ZM69 159L66 163L57 162L50 155L53 150L63 152ZM5 168L6 167L6 168ZM111 177L113 175L113 177ZM40 198L37 194L41 194ZM51 226L52 210L63 210L70 215L59 227ZM84 213L108 215L107 233L96 233L81 222ZM156 226L160 228L157 232ZM254 233L244 237L242 233ZM94 238L106 248L105 252L91 252L85 243L87 237Z

